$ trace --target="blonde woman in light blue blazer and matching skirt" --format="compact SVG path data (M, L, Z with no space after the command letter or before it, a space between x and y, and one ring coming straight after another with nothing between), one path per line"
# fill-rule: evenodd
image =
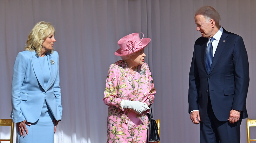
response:
M59 56L53 51L54 34L52 24L38 22L28 36L25 51L16 57L11 118L17 126L17 143L54 142L62 116Z

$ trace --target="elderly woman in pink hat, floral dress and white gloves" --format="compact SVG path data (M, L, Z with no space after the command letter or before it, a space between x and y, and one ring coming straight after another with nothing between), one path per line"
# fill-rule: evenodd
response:
M115 55L122 60L110 65L103 98L109 106L107 143L147 142L148 105L153 103L156 91L144 62L144 48L150 38L143 37L132 33L117 42L120 49Z

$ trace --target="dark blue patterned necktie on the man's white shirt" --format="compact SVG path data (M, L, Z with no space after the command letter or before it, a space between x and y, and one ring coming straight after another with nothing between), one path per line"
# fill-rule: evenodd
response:
M205 66L208 71L210 72L211 65L212 65L212 59L213 59L213 48L212 48L212 41L215 40L213 37L210 39L210 42L207 46L206 49L206 54L205 54Z

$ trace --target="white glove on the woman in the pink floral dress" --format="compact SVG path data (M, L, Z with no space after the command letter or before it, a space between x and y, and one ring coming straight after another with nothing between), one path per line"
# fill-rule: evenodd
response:
M135 113L141 114L147 110L149 110L149 107L147 103L139 102L139 101L129 101L129 100L122 100L121 106L123 108L129 108L135 110Z

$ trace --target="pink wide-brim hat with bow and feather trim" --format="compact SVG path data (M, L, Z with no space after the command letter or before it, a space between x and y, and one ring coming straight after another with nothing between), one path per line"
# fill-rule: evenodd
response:
M140 32L141 33L141 32ZM142 33L143 37L144 34ZM145 48L150 42L150 38L139 38L139 33L132 33L118 40L120 46L115 53L116 56L127 56Z

